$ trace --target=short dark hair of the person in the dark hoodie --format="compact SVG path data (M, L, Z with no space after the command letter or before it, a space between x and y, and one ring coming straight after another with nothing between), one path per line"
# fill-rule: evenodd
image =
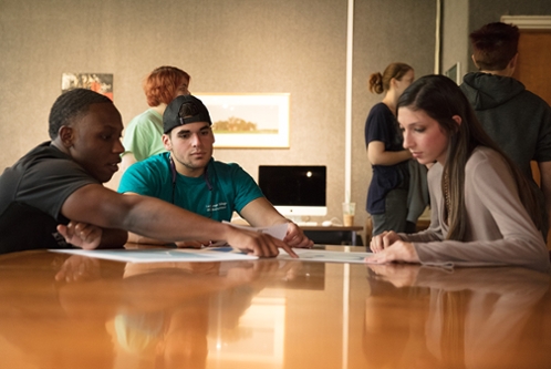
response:
M519 28L502 22L488 23L469 34L472 55L480 70L501 71L518 52Z

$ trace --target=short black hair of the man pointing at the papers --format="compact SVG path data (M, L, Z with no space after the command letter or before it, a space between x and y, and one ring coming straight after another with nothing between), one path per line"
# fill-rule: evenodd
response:
M61 94L52 105L49 117L49 134L55 140L62 125L86 113L92 104L110 103L110 98L86 89L74 89Z

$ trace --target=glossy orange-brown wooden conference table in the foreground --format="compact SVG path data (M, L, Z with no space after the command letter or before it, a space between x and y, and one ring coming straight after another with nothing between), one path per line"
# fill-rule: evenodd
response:
M0 368L550 368L550 276L523 268L0 256Z

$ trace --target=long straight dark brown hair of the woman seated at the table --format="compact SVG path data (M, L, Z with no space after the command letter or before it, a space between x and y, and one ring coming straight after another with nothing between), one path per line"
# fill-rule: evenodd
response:
M447 209L449 232L446 238L462 240L466 234L465 167L472 151L486 146L498 152L509 166L519 197L536 226L541 229L542 216L537 194L516 164L497 146L478 122L472 107L457 84L444 75L426 75L409 85L398 99L397 109L424 111L438 122L448 136L446 163L441 176L443 198L447 191L450 208ZM461 124L453 120L461 119ZM446 187L445 187L446 186ZM446 214L445 214L446 215Z

